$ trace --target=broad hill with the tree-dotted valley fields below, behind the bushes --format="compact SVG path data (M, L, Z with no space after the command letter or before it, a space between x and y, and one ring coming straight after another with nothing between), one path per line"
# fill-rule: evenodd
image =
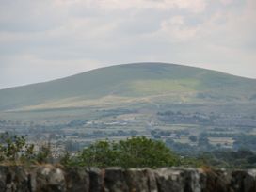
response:
M256 80L163 63L113 66L0 90L0 131L56 155L147 136L175 152L256 149ZM247 143L246 143L247 142Z

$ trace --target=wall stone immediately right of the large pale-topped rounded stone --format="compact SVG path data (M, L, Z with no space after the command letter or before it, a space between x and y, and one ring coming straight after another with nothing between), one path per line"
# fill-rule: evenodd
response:
M89 191L89 175L86 168L69 168L65 174L67 190L70 192Z

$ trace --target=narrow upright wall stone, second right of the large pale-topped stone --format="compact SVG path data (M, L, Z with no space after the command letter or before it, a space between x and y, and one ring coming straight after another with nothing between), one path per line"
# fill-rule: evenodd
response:
M89 192L103 191L103 172L99 168L88 168L89 175Z

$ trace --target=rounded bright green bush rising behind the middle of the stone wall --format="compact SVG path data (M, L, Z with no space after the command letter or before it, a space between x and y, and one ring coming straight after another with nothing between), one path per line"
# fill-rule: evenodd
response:
M77 156L65 158L66 166L122 168L159 168L179 166L180 158L160 141L145 136L127 138L119 142L97 141Z

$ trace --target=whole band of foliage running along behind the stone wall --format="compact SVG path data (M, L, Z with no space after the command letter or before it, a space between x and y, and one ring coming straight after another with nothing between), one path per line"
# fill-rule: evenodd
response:
M138 136L118 142L104 140L91 144L82 152L65 152L54 159L51 146L42 145L35 151L24 136L0 134L0 164L60 163L66 167L122 167L159 168L170 166L212 168L256 168L256 153L246 149L235 151L201 152L200 155L183 157L169 150L161 141Z

